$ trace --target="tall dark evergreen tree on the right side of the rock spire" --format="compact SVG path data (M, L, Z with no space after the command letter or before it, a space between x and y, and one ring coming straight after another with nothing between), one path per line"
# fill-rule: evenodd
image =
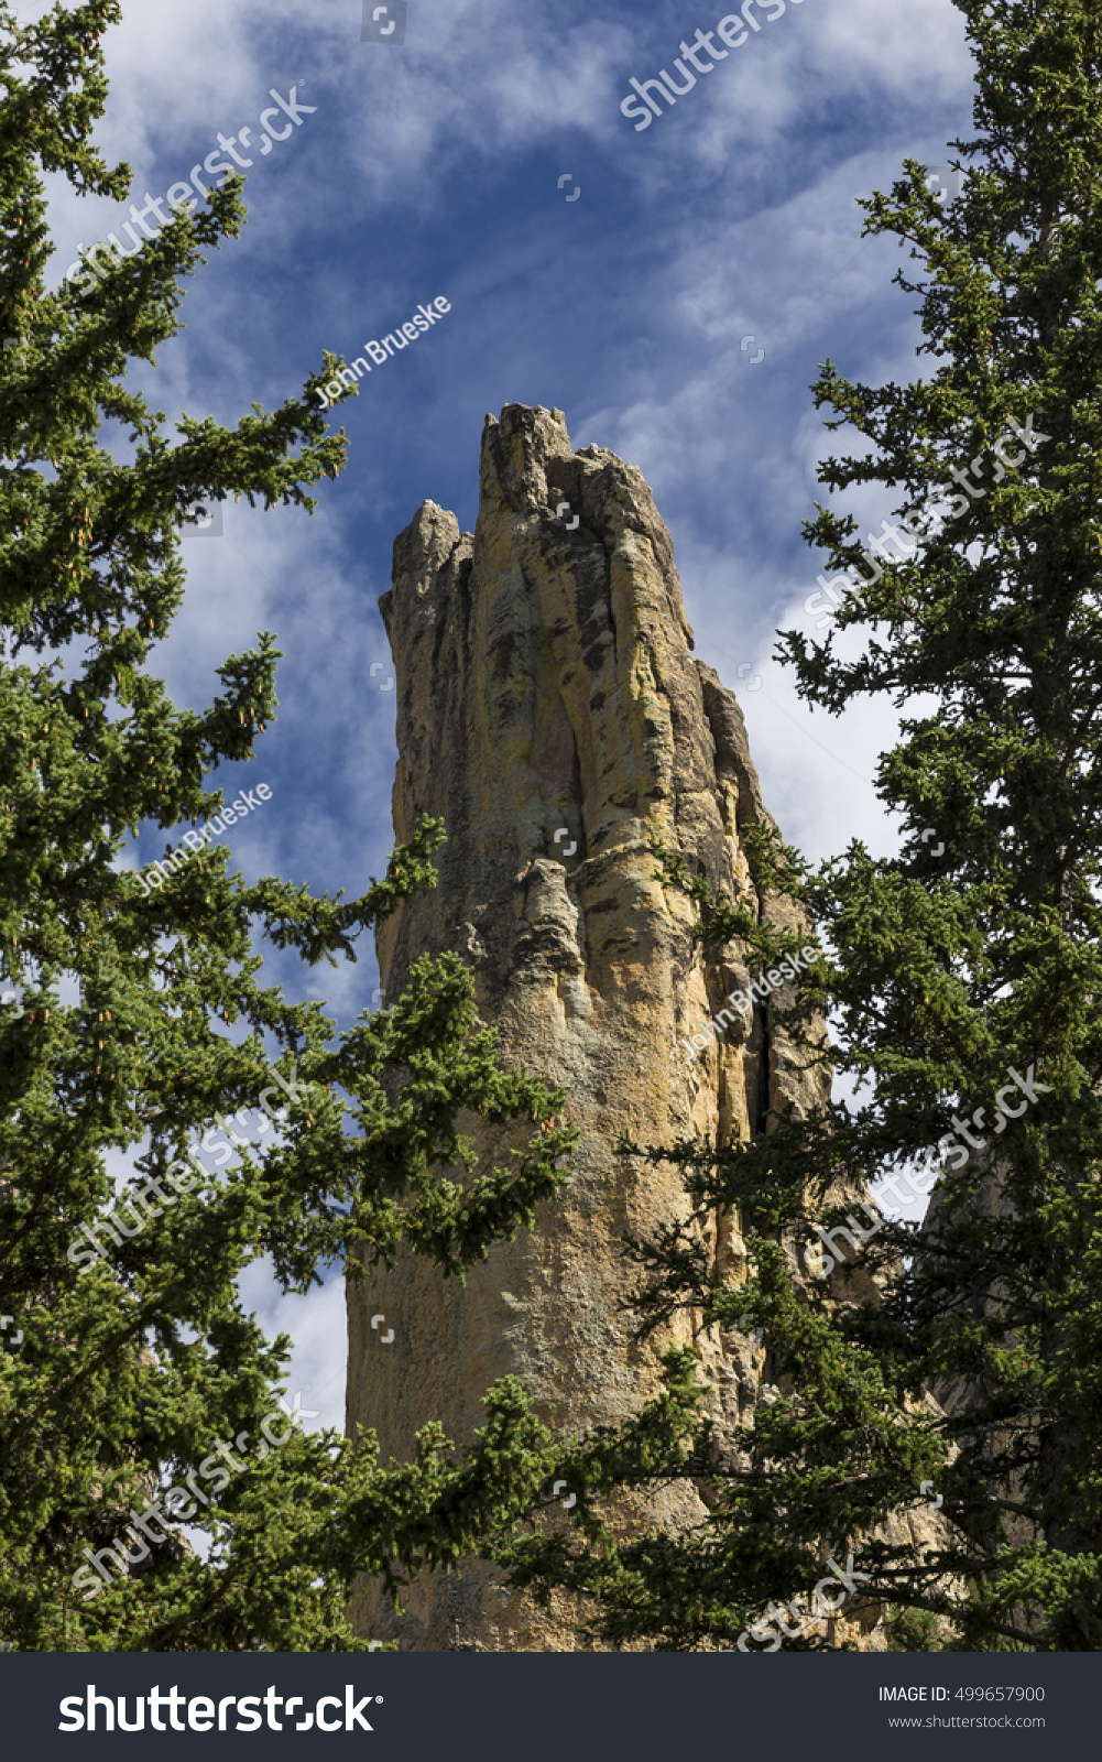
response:
M694 1351L671 1353L660 1401L562 1459L574 1529L502 1544L519 1582L593 1598L606 1642L822 1649L838 1630L789 1605L852 1554L847 1616L885 1614L896 1649L1102 1646L1102 16L956 5L977 78L963 192L942 203L907 160L863 204L921 264L898 282L929 368L870 388L827 363L813 388L827 426L866 442L820 481L893 492L896 560L820 506L804 532L847 571L827 594L864 643L841 659L833 633L782 636L810 703L910 708L877 774L901 853L856 842L817 872L753 853L759 886L822 932L789 1027L819 1059L829 1010L836 1066L864 1087L753 1142L646 1152L683 1168L695 1221L632 1244L643 1320L746 1316L764 1399L724 1433ZM662 870L704 941L776 959L753 900L715 897L676 855ZM847 1221L840 1196L885 1177L898 1200L937 1181L921 1233ZM741 1288L702 1228L729 1209ZM834 1225L854 1246L824 1258L813 1228ZM699 1529L613 1535L604 1496L662 1478L709 1489ZM915 1542L898 1517L938 1498Z

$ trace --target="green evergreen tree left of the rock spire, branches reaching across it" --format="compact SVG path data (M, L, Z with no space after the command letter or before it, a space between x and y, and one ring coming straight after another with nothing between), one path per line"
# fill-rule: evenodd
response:
M165 842L153 885L120 862L141 825L227 823L204 784L275 715L268 633L201 714L151 668L185 590L185 511L231 493L312 511L345 437L313 396L331 354L301 398L236 428L169 435L127 388L127 363L178 329L180 278L239 233L241 180L48 291L42 173L129 190L88 144L116 18L88 0L19 26L0 5L0 1639L345 1649L366 1644L345 1621L354 1573L396 1582L470 1552L488 1487L498 1507L511 1478L532 1498L546 1441L514 1387L467 1462L438 1427L389 1466L371 1436L305 1434L298 1399L278 1406L289 1341L264 1337L238 1279L271 1256L282 1290L306 1292L400 1249L461 1277L555 1195L574 1135L556 1091L500 1068L454 957L421 960L398 1006L340 1041L322 1004L261 983L262 943L356 959L433 885L438 825L354 900L246 886L197 832ZM243 1108L232 1159L215 1145L208 1166L195 1140ZM465 1110L539 1129L511 1166L475 1170ZM134 1151L116 1193L107 1159Z

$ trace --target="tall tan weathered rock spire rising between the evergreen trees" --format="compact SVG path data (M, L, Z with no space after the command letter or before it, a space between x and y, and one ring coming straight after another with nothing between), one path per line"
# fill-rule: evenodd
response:
M616 1159L618 1133L746 1135L768 1107L820 1091L760 1008L695 1062L683 1045L750 974L738 955L694 946L692 907L655 879L648 839L736 890L748 881L739 826L768 816L734 694L692 655L672 543L641 474L602 448L574 453L560 411L507 405L486 419L475 536L426 502L394 543L380 608L398 678L394 832L438 814L449 835L438 888L380 930L387 1001L417 955L459 951L505 1059L562 1084L583 1129L569 1196L465 1290L412 1258L350 1290L349 1427L375 1427L386 1459L408 1457L431 1418L468 1438L503 1374L555 1427L637 1410L665 1341L632 1339L621 1235L683 1216L685 1202L674 1173ZM762 911L783 918L776 902ZM496 1159L519 1142L474 1136ZM716 1253L739 1251L732 1225ZM382 1350L378 1311L396 1330ZM745 1417L750 1343L713 1339L709 1355L716 1404ZM687 1487L623 1510L699 1515ZM410 1649L574 1644L481 1566L426 1575L405 1605L396 1619L364 1586L359 1632Z

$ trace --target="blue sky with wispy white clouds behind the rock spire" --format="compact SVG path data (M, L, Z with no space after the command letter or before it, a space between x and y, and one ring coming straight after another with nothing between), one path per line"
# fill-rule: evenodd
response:
M234 828L241 869L352 893L384 870L394 692L377 599L391 544L426 497L474 527L482 419L512 402L558 405L576 448L607 446L648 478L697 654L739 694L785 837L812 858L852 837L891 849L870 784L891 712L810 715L768 657L822 567L799 530L822 493L815 462L859 449L822 428L806 389L819 363L919 377L914 298L893 285L907 259L861 240L854 197L889 189L905 157L945 162L970 134L949 0L803 0L769 23L759 9L760 32L643 132L620 111L628 78L672 72L680 41L722 18L713 0L408 0L401 46L361 41L361 0L123 11L97 141L130 162L139 206L218 130L250 127L255 150L271 88L315 106L255 157L241 240L211 254L187 331L141 381L171 416L271 409L322 349L352 358L419 303L451 301L336 412L349 469L312 520L231 502L222 536L187 543L188 597L160 652L174 700L209 701L215 666L259 629L285 650L278 721L252 765L218 779L273 789ZM60 277L125 210L62 185L51 199ZM845 506L866 525L891 511L875 488ZM139 860L160 846L150 832ZM276 976L345 1025L377 985L366 948L357 967ZM275 1302L255 1269L246 1295L299 1341L290 1387L310 1381L305 1406L340 1424L340 1288Z

